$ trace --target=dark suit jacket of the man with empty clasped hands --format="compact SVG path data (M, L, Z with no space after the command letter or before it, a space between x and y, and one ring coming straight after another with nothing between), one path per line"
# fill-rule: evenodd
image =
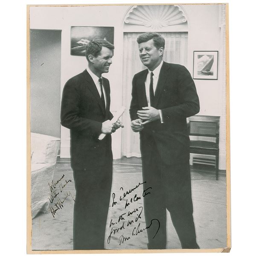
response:
M148 105L145 93L147 73L148 70L143 70L133 78L131 120L137 119L137 111ZM199 99L195 83L185 67L163 62L152 107L162 110L164 123L157 120L144 126L140 132L142 156L147 155L153 139L163 163L176 164L188 160L186 117L199 112Z

